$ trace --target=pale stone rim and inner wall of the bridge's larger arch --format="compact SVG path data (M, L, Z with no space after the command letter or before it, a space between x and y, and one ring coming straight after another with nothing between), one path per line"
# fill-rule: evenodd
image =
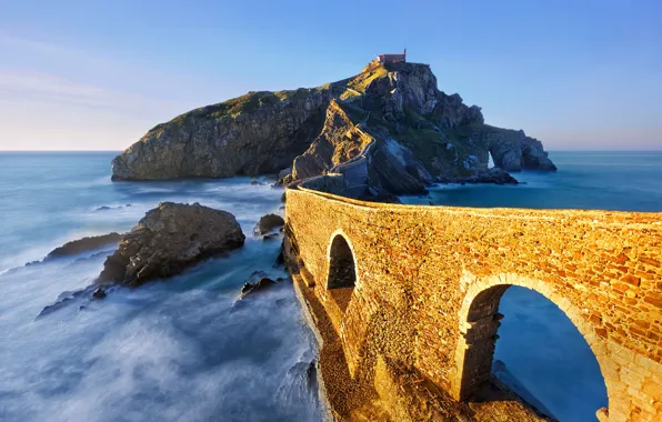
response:
M464 274L462 284L467 294L459 312L460 335L455 351L455 372L451 379L451 393L458 400L467 400L488 381L499 335L496 331L503 318L499 311L501 297L511 285L536 291L554 303L578 329L593 352L606 386L608 400L613 399L605 375L609 353L605 342L593 332L591 323L578 307L561 297L548 283L519 274L501 274L477 279ZM596 409L598 411L598 409Z

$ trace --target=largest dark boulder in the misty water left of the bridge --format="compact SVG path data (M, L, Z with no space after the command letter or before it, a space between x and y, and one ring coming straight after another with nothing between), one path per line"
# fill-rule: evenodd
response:
M171 277L202 259L240 248L244 239L229 212L199 203L163 202L122 237L98 281L136 287Z

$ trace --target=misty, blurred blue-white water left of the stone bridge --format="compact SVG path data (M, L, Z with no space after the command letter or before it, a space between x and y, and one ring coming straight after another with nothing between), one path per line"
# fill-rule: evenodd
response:
M0 153L0 421L320 420L308 376L314 340L291 284L233 307L253 271L285 277L273 268L280 242L252 238L261 215L282 212L282 190L247 178L112 183L114 154ZM26 262L127 231L165 200L232 212L244 247L37 319L89 285L104 254Z

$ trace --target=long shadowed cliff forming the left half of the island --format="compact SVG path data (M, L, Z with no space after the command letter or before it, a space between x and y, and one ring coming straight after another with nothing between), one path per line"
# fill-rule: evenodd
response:
M318 89L249 92L158 124L112 161L113 180L273 173L310 145L337 96Z

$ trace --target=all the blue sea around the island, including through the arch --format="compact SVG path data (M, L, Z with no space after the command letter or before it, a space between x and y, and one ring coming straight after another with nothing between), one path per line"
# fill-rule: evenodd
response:
M237 302L257 271L287 278L274 265L280 242L252 235L261 215L284 212L282 189L268 178L111 182L116 154L0 152L0 421L321 420L317 344L292 284ZM515 174L524 184L440 185L402 200L662 212L662 152L550 157L559 171ZM162 201L232 212L244 247L101 301L76 292L112 251L39 262L67 241L128 231ZM563 312L514 287L500 311L498 376L560 421L595 420L604 380Z

